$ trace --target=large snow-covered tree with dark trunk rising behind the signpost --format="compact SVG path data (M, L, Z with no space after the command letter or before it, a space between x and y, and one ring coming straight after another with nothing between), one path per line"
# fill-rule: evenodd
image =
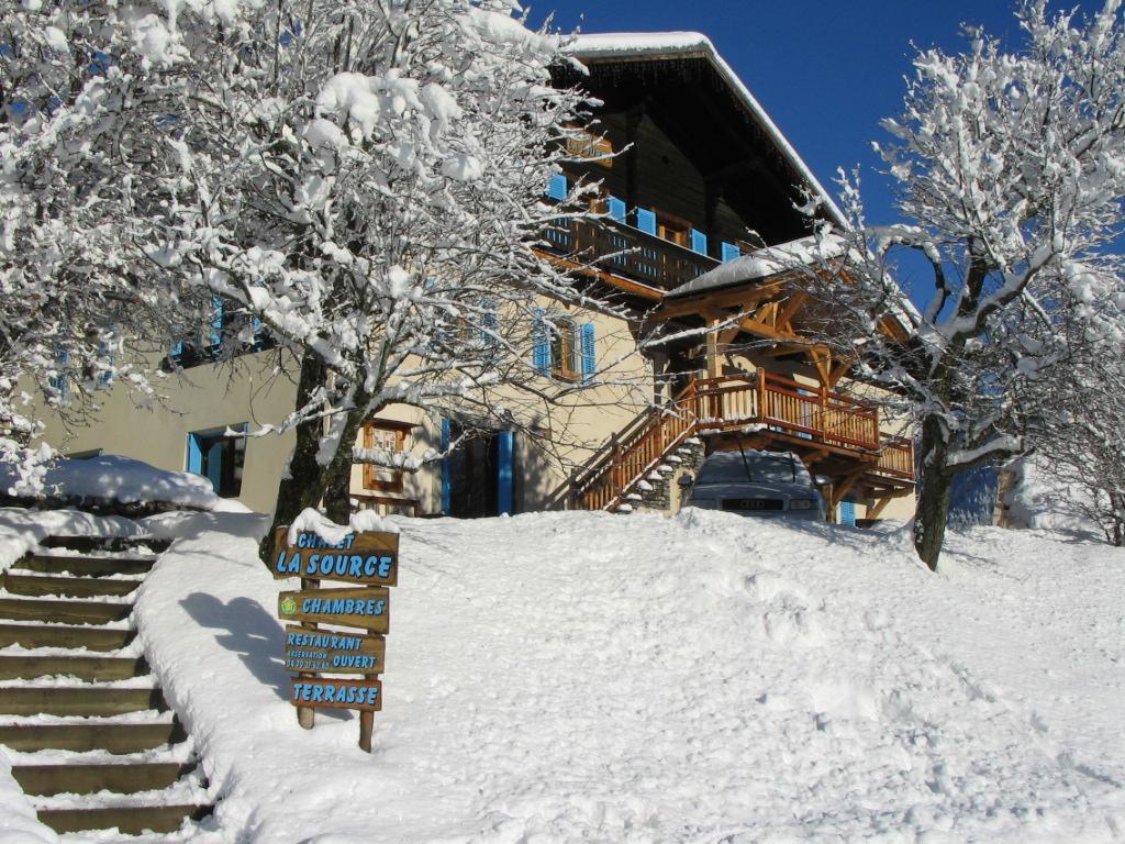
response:
M4 12L14 55L38 30L37 61L69 72L9 107L20 153L105 170L83 200L138 288L220 297L242 314L235 340L266 331L294 357L278 522L322 499L345 517L352 443L389 404L530 427L585 386L539 377L531 353L560 311L612 309L536 249L585 214L583 187L561 207L543 196L584 99L550 84L559 39L515 14L511 0Z

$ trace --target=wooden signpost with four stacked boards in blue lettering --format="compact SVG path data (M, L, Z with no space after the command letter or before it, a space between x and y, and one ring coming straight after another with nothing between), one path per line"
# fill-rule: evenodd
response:
M359 710L359 746L371 752L375 713L382 709L382 673L390 625L390 591L398 583L397 533L349 533L330 545L312 531L289 545L289 529L273 537L270 571L276 578L300 577L300 590L278 595L286 627L286 671L295 676L289 701L297 721L312 729L315 710ZM321 589L321 581L360 589ZM291 622L297 622L292 625ZM362 632L322 627L358 627ZM362 674L362 680L321 674Z

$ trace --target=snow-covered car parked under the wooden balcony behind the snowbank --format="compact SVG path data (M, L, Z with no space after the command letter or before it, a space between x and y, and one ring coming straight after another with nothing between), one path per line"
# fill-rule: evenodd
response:
M791 451L717 451L681 478L684 506L739 515L824 521L825 499Z

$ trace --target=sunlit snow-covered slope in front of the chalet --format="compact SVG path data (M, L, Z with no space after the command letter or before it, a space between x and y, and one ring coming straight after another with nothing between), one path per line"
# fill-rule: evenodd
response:
M182 539L143 644L224 842L1114 842L1125 553L686 511L397 520L384 711L298 728L264 523ZM2 787L2 783L0 783ZM4 800L0 788L0 800Z

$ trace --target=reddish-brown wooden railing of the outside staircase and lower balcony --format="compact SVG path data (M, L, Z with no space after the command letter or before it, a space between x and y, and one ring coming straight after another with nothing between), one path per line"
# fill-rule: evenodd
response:
M690 381L667 405L640 414L612 437L572 478L562 497L570 509L611 508L687 438L753 425L852 452L871 463L873 474L914 481L912 443L881 436L876 408L758 370Z

